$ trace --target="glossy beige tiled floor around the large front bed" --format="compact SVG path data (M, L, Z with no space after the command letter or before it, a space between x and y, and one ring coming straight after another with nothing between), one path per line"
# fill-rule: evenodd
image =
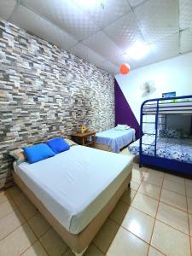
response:
M192 181L136 164L132 174L85 255L192 255ZM9 255L73 256L17 187L0 193L0 256Z

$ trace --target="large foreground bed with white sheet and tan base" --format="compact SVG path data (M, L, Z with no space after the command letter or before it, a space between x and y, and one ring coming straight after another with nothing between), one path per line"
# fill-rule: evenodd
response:
M82 255L131 182L132 158L76 145L14 170L15 183Z

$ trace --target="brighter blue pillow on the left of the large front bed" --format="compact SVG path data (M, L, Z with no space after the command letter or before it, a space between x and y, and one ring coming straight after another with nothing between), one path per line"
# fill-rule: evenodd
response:
M55 155L53 150L51 150L51 148L49 148L48 145L45 143L40 143L32 147L26 147L23 148L23 150L30 164L36 163L40 160L44 160Z

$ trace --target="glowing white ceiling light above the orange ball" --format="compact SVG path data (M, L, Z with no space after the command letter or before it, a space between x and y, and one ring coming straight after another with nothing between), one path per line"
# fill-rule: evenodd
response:
M143 44L140 41L137 41L130 49L127 50L127 55L134 60L140 60L143 56L147 55L150 50L149 44Z

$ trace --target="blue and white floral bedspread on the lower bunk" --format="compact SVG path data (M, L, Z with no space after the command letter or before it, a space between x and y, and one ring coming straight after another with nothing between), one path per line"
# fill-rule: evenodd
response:
M143 136L143 154L154 155L154 136ZM139 140L129 145L132 154L139 154ZM192 139L157 138L157 156L192 164Z

